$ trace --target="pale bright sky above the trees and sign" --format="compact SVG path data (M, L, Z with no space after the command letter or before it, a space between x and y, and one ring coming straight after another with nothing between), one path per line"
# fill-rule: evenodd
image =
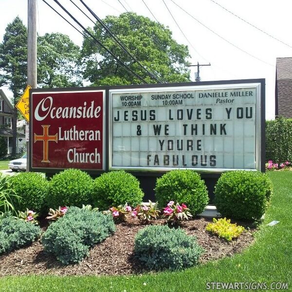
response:
M79 0L72 0L84 11ZM84 0L99 18L134 11L172 31L173 38L189 48L191 64L211 64L200 68L201 81L266 79L266 119L274 118L275 64L277 57L292 57L292 1L290 0ZM224 8L216 4L220 4ZM53 0L47 0L59 12ZM92 22L70 0L59 0L84 26ZM121 3L120 3L121 2ZM186 12L181 10L176 2ZM154 15L150 13L150 11ZM165 4L166 5L165 5ZM170 15L169 11L172 16ZM19 16L27 25L27 0L0 0L0 41L8 23ZM87 12L87 11L86 11ZM232 14L233 13L233 14ZM63 14L63 13L62 13ZM89 13L88 13L89 14ZM63 14L64 15L64 14ZM236 17L236 16L237 17ZM245 21L253 24L247 24ZM67 34L81 46L83 37L42 0L37 0L37 32ZM197 19L197 20L196 20ZM71 21L71 19L70 19ZM268 36L269 34L270 36ZM276 40L279 39L280 41ZM286 44L284 44L284 43ZM195 81L197 67L191 68ZM1 88L8 97L12 93Z

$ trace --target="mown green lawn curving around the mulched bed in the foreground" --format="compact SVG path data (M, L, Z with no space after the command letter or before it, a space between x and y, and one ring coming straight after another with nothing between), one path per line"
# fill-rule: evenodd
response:
M0 279L0 291L203 292L207 282L267 282L268 288L272 282L288 282L289 290L285 291L292 291L292 171L269 172L269 176L274 183L272 205L256 233L256 243L242 254L181 272L96 277L10 276ZM272 220L280 223L266 226Z

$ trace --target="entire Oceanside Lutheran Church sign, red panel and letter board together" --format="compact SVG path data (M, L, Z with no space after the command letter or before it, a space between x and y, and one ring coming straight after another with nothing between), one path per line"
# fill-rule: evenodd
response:
M264 79L31 90L30 170L264 171Z

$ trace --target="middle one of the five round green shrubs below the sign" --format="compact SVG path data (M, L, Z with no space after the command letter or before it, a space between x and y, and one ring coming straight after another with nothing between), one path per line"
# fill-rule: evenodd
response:
M104 173L94 180L92 201L101 210L125 203L136 206L143 197L139 181L124 170Z

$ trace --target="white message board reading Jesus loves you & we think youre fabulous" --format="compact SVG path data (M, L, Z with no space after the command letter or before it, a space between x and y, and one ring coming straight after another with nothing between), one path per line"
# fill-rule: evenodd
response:
M260 169L260 84L110 91L110 169Z

